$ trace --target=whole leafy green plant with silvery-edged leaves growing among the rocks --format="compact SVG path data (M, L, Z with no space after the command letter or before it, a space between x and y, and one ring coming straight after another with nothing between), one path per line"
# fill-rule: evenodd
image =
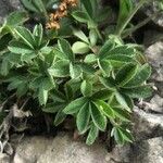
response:
M7 91L30 96L45 113L54 115L55 126L71 115L87 145L99 131L108 131L109 124L117 142L133 142L128 124L134 99L151 96L151 68L137 45L121 39L126 26L118 20L118 35L103 35L100 25L111 14L110 7L101 8L97 0L54 1L55 11L48 10L50 1L22 2L32 15L42 13L47 25L29 29L24 26L28 13L17 11L0 28L0 42L7 45L0 46L0 82L8 84ZM121 8L125 4L121 1ZM125 14L121 10L123 22L131 8Z

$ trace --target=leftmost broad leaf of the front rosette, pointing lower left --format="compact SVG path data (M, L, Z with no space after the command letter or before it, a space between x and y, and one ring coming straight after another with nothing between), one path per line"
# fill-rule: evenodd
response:
M74 101L72 101L64 110L63 112L65 114L74 114L79 111L79 109L87 103L88 100L85 97L78 98Z

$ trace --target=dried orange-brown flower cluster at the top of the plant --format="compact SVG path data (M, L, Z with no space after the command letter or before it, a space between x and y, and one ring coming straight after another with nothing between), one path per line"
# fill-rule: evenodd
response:
M51 13L49 16L49 22L47 23L47 28L60 28L60 20L67 15L68 8L76 7L77 0L62 0L58 10Z

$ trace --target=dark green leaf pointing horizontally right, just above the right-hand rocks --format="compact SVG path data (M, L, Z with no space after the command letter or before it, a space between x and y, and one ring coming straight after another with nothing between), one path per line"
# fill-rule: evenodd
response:
M130 98L145 99L152 96L152 88L150 86L139 86L134 88L123 88L122 92Z

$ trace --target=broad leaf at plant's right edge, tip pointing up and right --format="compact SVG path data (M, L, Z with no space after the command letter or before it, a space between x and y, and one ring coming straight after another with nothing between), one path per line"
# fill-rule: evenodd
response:
M124 87L136 87L143 84L151 75L151 66L147 63L142 65L137 74Z

